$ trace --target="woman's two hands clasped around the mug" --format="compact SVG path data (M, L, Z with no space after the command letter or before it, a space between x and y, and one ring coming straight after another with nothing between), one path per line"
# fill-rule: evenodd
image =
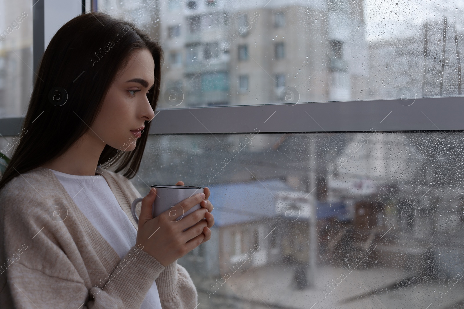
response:
M141 244L143 251L166 267L199 246L206 237L208 237L206 240L209 240L211 231L207 225L211 220L203 220L208 209L200 208L176 221L184 211L198 203L204 204L203 200L206 197L204 193L192 195L153 218L152 204L155 197L156 189L150 188L148 195L142 199L136 246ZM183 232L185 229L186 231ZM207 229L206 234L205 229Z

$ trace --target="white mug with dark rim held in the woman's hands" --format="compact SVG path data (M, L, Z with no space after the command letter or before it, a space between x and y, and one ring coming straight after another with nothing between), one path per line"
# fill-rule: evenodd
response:
M153 218L160 215L161 213L165 212L166 210L172 208L179 202L182 202L186 198L189 198L192 195L205 193L203 192L202 187L193 187L193 186L173 186L173 185L158 185L158 186L150 186L156 188L156 198L155 202L152 205L152 215ZM135 206L137 203L142 201L142 197L136 198L132 205L130 206L130 212L134 217L135 222L139 223L139 218L135 214ZM189 210L182 213L179 217L177 217L176 221L179 221L187 214L193 213L195 210L200 209L200 203L196 204Z

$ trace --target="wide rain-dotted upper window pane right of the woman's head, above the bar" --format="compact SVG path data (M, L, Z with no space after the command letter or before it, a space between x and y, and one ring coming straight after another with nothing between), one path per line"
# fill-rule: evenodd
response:
M463 0L198 0L182 1L180 9L174 0L152 2L98 1L100 9L134 17L138 8L149 19L139 26L165 50L217 42L213 57L196 63L195 74L220 69L229 82L248 74L253 85L250 95L229 87L224 105L287 103L273 89L277 74L287 76L285 87L296 89L299 102L461 95ZM155 7L150 14L148 6ZM186 31L169 40L174 25ZM246 57L239 46L247 47ZM231 57L223 57L226 52ZM191 79L187 66L163 68L165 76ZM186 96L175 108L192 106L198 102ZM173 107L161 100L159 108Z

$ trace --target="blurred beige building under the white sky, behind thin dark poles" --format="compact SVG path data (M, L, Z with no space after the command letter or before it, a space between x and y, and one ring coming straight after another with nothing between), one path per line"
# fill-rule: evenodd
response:
M437 15L412 34L369 42L368 98L397 98L407 107L414 98L461 95L459 29Z

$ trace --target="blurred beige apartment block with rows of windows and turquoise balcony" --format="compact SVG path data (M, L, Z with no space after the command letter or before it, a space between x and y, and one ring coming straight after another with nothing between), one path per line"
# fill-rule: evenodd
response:
M363 98L361 6L168 0L160 15L160 108Z

